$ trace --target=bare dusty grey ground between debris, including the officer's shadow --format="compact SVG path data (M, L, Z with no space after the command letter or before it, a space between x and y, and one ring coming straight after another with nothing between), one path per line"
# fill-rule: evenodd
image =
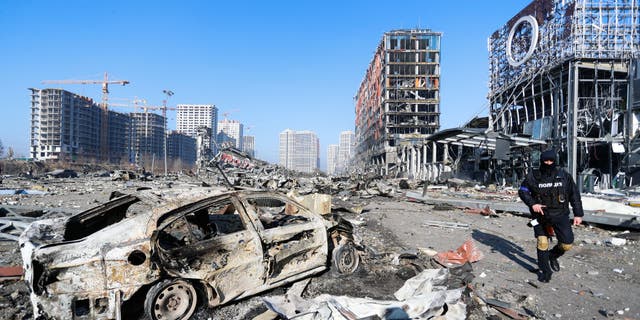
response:
M110 181L109 178L51 180L5 179L4 188L43 188L46 195L0 196L3 204L59 207L79 211L104 202L113 190L134 192L141 185L167 186L171 181ZM437 192L437 191L435 191ZM455 250L473 239L484 257L473 263L473 286L484 298L508 302L535 319L640 319L640 251L638 242L624 246L608 243L623 230L598 226L575 228L574 249L560 259L561 271L551 283L537 281L535 240L527 218L509 213L486 217L393 197L352 198L363 203L360 214L343 213L356 224L357 234L368 247L366 261L356 274L333 271L313 277L304 297L328 293L352 297L393 299L393 293L415 274L413 268L395 265L401 253L419 248L438 252ZM445 210L442 210L445 209ZM434 227L425 221L457 222L468 228ZM424 251L424 250L423 250ZM19 265L17 244L0 241L0 265ZM418 255L420 264L428 257ZM279 288L263 295L280 295ZM27 288L20 281L0 282L0 318L30 319ZM196 319L251 319L264 312L260 296L215 310L200 309ZM470 319L507 319L495 309L471 305Z

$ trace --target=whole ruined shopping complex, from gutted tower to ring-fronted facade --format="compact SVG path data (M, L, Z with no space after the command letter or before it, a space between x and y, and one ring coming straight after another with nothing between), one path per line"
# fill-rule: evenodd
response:
M441 131L440 33L386 33L356 97L356 162L517 185L553 147L587 188L637 185L639 19L633 0L531 2L489 37L488 117Z

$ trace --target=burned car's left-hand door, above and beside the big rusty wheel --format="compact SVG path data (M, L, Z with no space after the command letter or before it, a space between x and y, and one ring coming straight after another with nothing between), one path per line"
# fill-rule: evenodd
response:
M231 196L200 201L178 209L155 235L162 268L210 285L212 306L264 284L260 238L238 208Z

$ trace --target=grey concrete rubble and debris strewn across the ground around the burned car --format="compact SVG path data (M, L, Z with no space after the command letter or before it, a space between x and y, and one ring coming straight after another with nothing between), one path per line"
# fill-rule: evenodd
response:
M113 170L100 168L75 170L78 174L77 178L55 177L49 174L52 170L47 171L44 170L44 168L30 170L31 172L29 172L28 175L5 175L3 177L3 184L0 185L3 190L6 190L4 193L0 192L0 201L2 202L0 207L0 245L2 245L2 248L6 248L4 250L13 252L13 254L0 257L0 266L17 267L22 264L19 258L19 251L15 246L20 234L23 233L31 222L51 218L64 219L87 208L107 202L113 191L118 191L122 194L136 195L142 192L154 192L153 190L173 190L178 192L177 190L184 187L209 188L212 186L218 187L226 185L227 189L235 189L238 191L258 189L288 195L289 197L297 199L298 202L303 203L306 207L312 208L315 212L329 216L344 216L352 223L354 237L358 241L361 240L361 249L363 250L359 270L367 270L367 274L370 273L371 277L374 278L377 272L382 272L380 270L395 270L393 272L403 274L405 278L404 281L422 274L425 270L433 270L434 267L443 268L443 265L438 263L434 257L437 253L444 253L454 249L455 244L452 245L452 243L449 242L446 247L433 250L433 245L429 245L430 241L423 240L421 245L414 247L415 250L411 251L413 253L407 254L406 247L390 245L389 241L391 241L391 239L398 238L394 241L406 242L418 235L419 237L417 239L435 239L429 238L429 235L438 234L439 232L453 235L471 234L473 235L473 239L478 242L478 246L486 247L488 244L493 243L487 240L491 239L492 236L487 234L486 230L479 229L479 223L501 224L500 221L506 217L523 217L521 219L523 221L522 225L524 226L524 221L526 221L524 217L528 214L528 211L525 210L526 208L523 209L522 203L517 199L517 190L513 188L496 187L494 185L482 186L474 181L458 178L449 179L449 181L443 182L442 184L433 184L400 178L382 179L375 175L353 174L351 176L333 178L316 175L305 176L299 173L289 172L277 165L247 158L236 150L226 150L225 152L227 152L226 155L222 156L225 153L221 153L216 163L210 164L206 171L172 173L168 176L152 175L150 172L143 173L130 169ZM11 192L11 190L37 190L40 192L19 193ZM590 212L589 216L593 218L592 220L589 220L589 218L585 219L587 225L590 225L585 231L597 227L614 228L614 231L600 232L602 235L598 236L589 236L589 233L582 235L578 237L580 241L579 246L594 248L589 250L632 250L629 254L632 254L631 252L637 254L635 249L638 240L637 228L635 227L637 222L633 222L637 221L637 216L640 215L638 212L640 208L633 205L635 203L634 199L637 199L637 197L638 193L636 190L584 194L585 209ZM330 205L327 205L327 199L330 199ZM429 211L428 216L416 220L417 223L414 222L413 225L393 229L391 225L387 225L389 221L387 221L385 217L391 214L395 215L395 213L394 211L384 209L386 205L381 204L385 203L399 203L409 208L429 208L429 210L433 211ZM438 206L440 206L441 211L437 211ZM403 211L405 210L398 211L397 214L406 215L409 213ZM461 215L464 215L465 219L457 218L461 217ZM622 220L614 221L612 220L614 215L622 215L623 218L621 218ZM378 218L372 220L373 217ZM606 219L603 217L606 217ZM628 220L632 222L630 223ZM398 221L397 223L402 223L402 221ZM414 233L415 231L405 233L409 232L405 230L411 230L411 228L415 228L414 226L417 227L418 230L421 230L421 233ZM622 232L624 230L631 230L631 232ZM363 233L366 234L366 236L363 237ZM460 243L457 243L457 245L459 244ZM283 248L274 249L272 252L282 252L282 249ZM483 251L484 256L495 254L493 251ZM531 254L531 250L527 249L526 251L529 251L528 253ZM518 257L518 255L521 254L519 252L522 251L515 249L504 252L507 257L513 258ZM614 251L607 252L613 253ZM633 255L631 257L633 257ZM585 255L584 251L578 251L578 253L572 255L571 258L562 261L561 264L564 269L567 268L568 265L580 266L587 263L596 263L590 259L588 255ZM474 265L476 263L482 264L483 262L474 262ZM602 278L605 276L609 277L608 274L610 273L618 277L627 277L627 281L635 281L635 276L638 274L637 265L637 262L633 265L614 263L608 268L608 271L602 269L591 270L593 272L589 271L590 273L585 271L584 273L577 274L575 277L577 279ZM436 270L450 271L454 268L455 266L448 265L444 269ZM496 274L496 272L498 272L498 274ZM483 276L475 281L487 281L488 279L499 276L501 272L503 271L500 271L500 269L496 270L495 267L491 269L479 269L478 274L482 273ZM569 271L569 273L570 272L571 271ZM404 297L404 300L396 297L398 301L395 301L393 300L393 292L388 291L389 286L383 288L384 284L382 283L376 285L373 280L371 280L373 282L368 282L368 280L362 279L358 280L359 282L356 281L350 284L354 291L349 292L349 290L347 290L345 294L345 292L337 290L336 288L340 288L345 283L351 282L347 281L348 278L334 279L332 274L333 273L330 272L327 273L327 275L315 275L309 287L304 290L304 294L301 292L298 298L284 298L272 295L269 298L264 298L264 301L260 298L257 298L258 300L249 299L246 302L240 302L236 305L242 306L254 303L254 310L255 308L261 309L259 305L268 305L268 308L272 312L279 314L283 318L296 318L288 313L291 309L306 310L306 316L309 318L298 315L297 317L300 319L332 319L324 317L327 315L327 312L329 312L328 310L332 310L333 313L331 314L333 315L342 315L345 311L348 311L346 312L346 317L342 315L343 318L349 319L349 312L354 313L357 318L360 316L357 312L361 310L360 308L362 308L362 306L368 306L365 310L377 310L377 316L382 319L392 318L391 314L386 314L386 312L391 309L395 310L394 312L405 313L408 313L408 310L421 310L420 312L422 313L418 311L411 313L411 315L416 315L416 317L419 318L420 315L426 315L426 313L424 313L425 311L431 310L435 312L438 308L442 308L442 304L440 303L443 301L442 296L447 296L447 294L439 292L437 294L438 298L434 296L433 300L421 299L420 304L414 305L410 303L413 301L412 296ZM404 274L407 276L405 277ZM369 277L369 275L356 272L356 275L353 277L355 280L358 279L358 277ZM591 279L589 281L596 280L597 279ZM17 296L14 295L13 297L7 293L4 298L2 298L3 295L0 294L0 304L5 303L3 301L13 301L11 304L18 306L20 310L22 310L19 311L19 313L21 312L21 314L27 317L32 316L33 314L31 312L33 312L33 310L30 307L30 303L23 298L29 295L24 284L14 282L15 280L5 280L3 283L5 284L5 288L8 288L7 283L10 284L10 287L17 286L19 289L13 289L13 291L22 293ZM366 292L366 290L363 291L364 289L361 287L362 283L371 283L371 286L366 290L373 290L372 292L382 290L382 292L386 293L379 294L378 297L374 298L359 295L357 292ZM376 286L383 287L376 288ZM525 282L525 286L533 288L533 290L542 290L541 288L535 287L539 286L535 284L535 280L533 280L533 282ZM520 286L516 287L518 288ZM522 289L522 287L520 287L520 289L514 289L516 291L512 291L510 294L517 295L517 290ZM466 312L466 317L471 319L473 319L474 315L484 314L486 317L498 311L498 314L501 315L512 313L513 316L517 316L522 314L523 307L529 310L524 313L530 318L542 319L547 316L551 317L553 314L560 314L560 312L557 311L553 314L541 313L542 310L540 309L531 309L532 307L529 305L530 301L517 302L506 296L496 295L495 293L484 297L487 296L486 290L488 289L476 286L475 291L461 291L461 295L457 295L455 299L451 297L446 298L451 298L447 300L447 305L451 307L451 305L462 303L462 311ZM492 290L499 291L499 289ZM603 294L598 292L595 287L584 288L578 284L572 285L570 290L575 290L576 296L582 297L580 292L583 292L594 299L602 299L601 297L604 298L611 295L611 293ZM335 291L335 293L332 293L332 291ZM479 297L480 291L484 291L483 298ZM0 293L1 292L0 290ZM477 294L474 292L477 292ZM491 299L495 299L496 301ZM511 305L507 307L501 304L500 301L509 301ZM431 302L433 302L433 304L430 304ZM380 308L375 309L371 307L371 305L377 305ZM514 306L518 307L516 308L517 310L514 309ZM635 307L637 307L636 304L631 303L630 306L631 311L625 311L625 314L638 312L635 310ZM394 307L398 308L394 309ZM606 313L609 314L612 313L609 310L624 310L626 307L628 306L607 306L606 308L603 307L603 309L606 309ZM500 310L500 308L502 308L502 310ZM207 312L213 312L210 314L214 315L216 312L222 312L224 315L226 308L218 307L216 310L219 311L200 311L196 313L195 317L197 319L206 319L208 317L206 315L208 314ZM262 310L266 311L264 309ZM455 311L456 309L449 308L448 310L451 318L445 317L445 319L455 319L458 314L457 311ZM237 312L237 310L234 312ZM465 318L464 312L461 313L462 318ZM245 315L240 318L246 318L247 314L253 314L255 316L256 312L245 313ZM313 317L311 316L312 314L314 315ZM250 318L252 317L253 316Z

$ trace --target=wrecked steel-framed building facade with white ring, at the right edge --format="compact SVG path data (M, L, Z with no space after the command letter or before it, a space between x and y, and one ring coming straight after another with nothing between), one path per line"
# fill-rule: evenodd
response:
M498 176L516 183L553 147L582 182L638 183L638 1L536 0L491 35L489 48L488 130L546 142L487 148Z

